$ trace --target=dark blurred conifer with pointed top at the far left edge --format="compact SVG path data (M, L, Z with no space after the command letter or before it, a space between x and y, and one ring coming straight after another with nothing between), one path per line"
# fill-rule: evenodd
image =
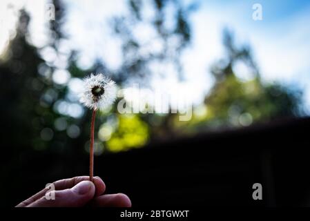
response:
M0 109L0 117L8 128L1 135L4 145L10 148L32 146L30 137L39 134L37 124L48 120L48 117L43 119L37 106L44 84L37 78L37 67L43 59L37 48L26 41L29 20L28 14L21 10L16 37L10 41L0 64L0 99L5 107ZM18 139L14 139L16 136Z

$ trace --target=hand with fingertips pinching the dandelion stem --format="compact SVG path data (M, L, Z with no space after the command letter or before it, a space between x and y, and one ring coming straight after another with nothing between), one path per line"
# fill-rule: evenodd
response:
M100 177L94 177L93 182L88 176L73 177L53 182L55 185L55 200L47 200L43 189L39 193L21 202L17 207L130 207L131 202L123 193L104 194L106 184ZM49 192L51 194L52 191ZM52 193L52 194L54 194Z

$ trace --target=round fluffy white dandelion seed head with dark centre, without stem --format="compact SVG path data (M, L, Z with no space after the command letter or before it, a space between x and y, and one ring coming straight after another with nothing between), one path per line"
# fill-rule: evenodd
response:
M84 79L84 90L80 102L90 109L98 110L110 106L116 99L115 82L99 73Z

